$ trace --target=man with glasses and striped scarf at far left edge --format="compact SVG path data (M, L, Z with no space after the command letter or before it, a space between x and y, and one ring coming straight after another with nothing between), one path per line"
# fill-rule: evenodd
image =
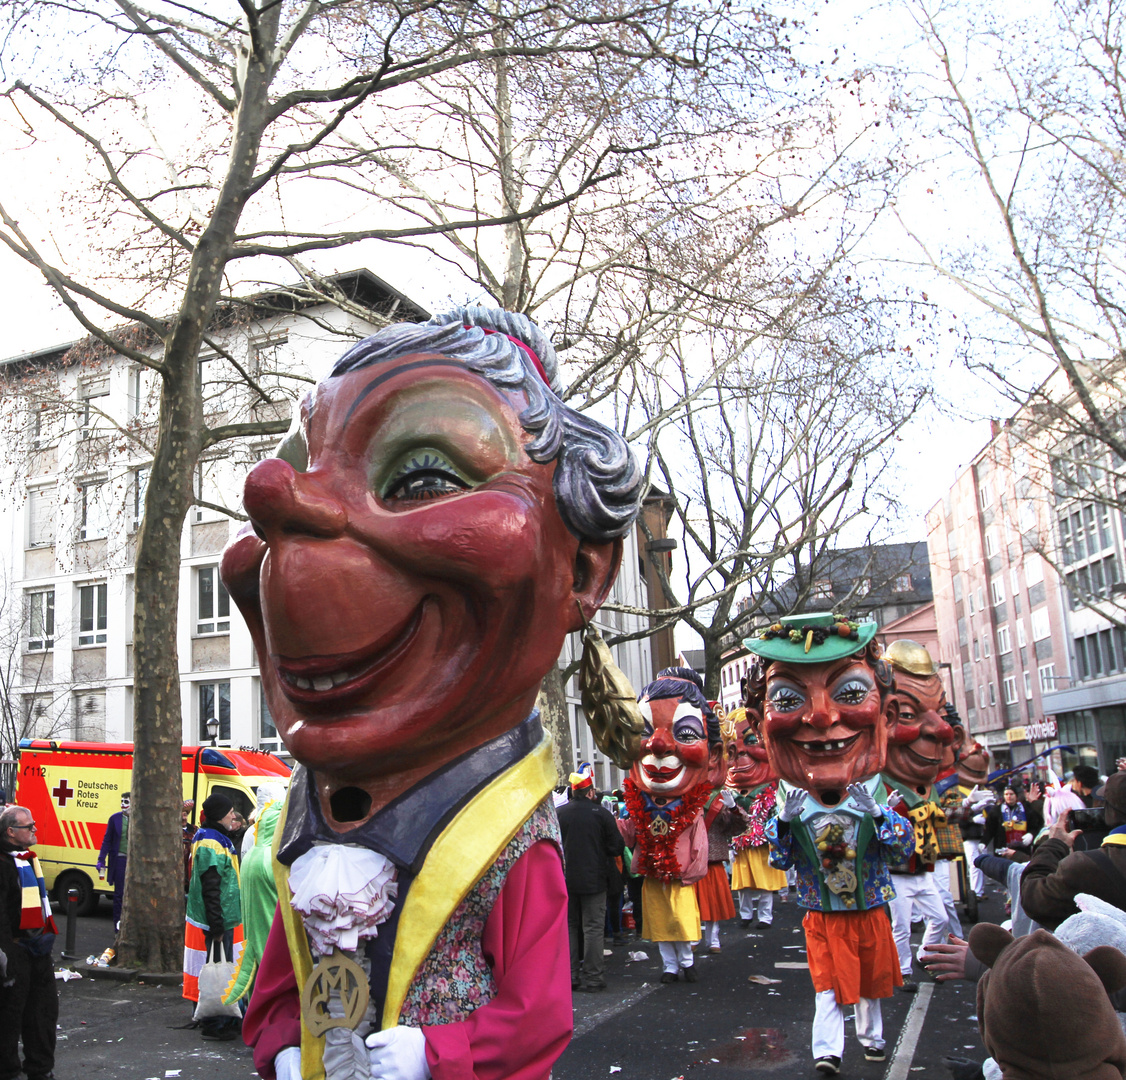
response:
M59 991L51 963L55 920L30 811L0 810L0 1080L54 1080Z

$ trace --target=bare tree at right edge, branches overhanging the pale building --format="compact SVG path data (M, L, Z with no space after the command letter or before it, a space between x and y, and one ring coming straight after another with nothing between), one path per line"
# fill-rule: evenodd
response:
M1018 498L1046 503L1019 526L1025 550L1074 601L1126 627L1121 569L1091 559L1112 546L1108 516L1126 510L1126 9L915 12L933 65L914 131L968 167L983 226L956 246L904 221L915 265L968 298L965 359L1012 405Z

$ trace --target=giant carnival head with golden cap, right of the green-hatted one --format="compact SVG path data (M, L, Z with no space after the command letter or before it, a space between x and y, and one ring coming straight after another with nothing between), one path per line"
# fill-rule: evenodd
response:
M901 788L927 795L954 761L962 729L949 723L946 689L930 653L918 642L893 641L884 659L895 672L895 700L900 714L887 732L884 773Z

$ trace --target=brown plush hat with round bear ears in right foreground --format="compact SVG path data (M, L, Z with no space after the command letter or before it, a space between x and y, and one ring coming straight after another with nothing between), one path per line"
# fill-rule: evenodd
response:
M1121 1080L1126 1035L1108 994L1126 987L1126 956L1100 945L1073 953L1047 930L1013 938L980 922L969 949L988 971L977 1025L1004 1080Z

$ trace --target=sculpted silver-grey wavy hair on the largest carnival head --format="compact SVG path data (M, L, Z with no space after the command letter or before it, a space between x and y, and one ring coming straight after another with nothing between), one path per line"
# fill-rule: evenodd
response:
M536 354L548 385L524 349L504 334ZM617 431L562 402L555 349L530 319L516 312L458 307L427 323L396 323L354 345L329 377L410 352L440 352L500 390L521 391L528 405L520 425L534 436L525 449L539 464L556 462L555 502L566 527L596 543L629 532L641 508L644 480L637 461Z

